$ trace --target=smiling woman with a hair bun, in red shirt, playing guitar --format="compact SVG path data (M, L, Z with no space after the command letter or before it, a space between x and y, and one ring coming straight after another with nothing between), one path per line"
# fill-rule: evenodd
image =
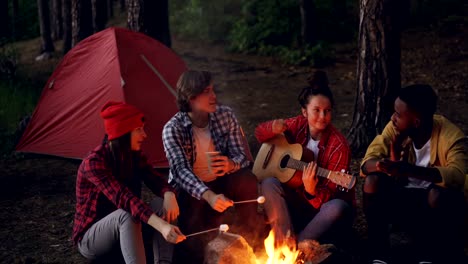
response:
M255 136L263 143L283 133L290 144L299 143L310 150L315 162L304 160L303 155L310 163L299 187L282 184L274 177L264 179L265 211L277 244L299 243L301 249L304 240L344 242L347 237L343 231L351 229L353 220L354 189L342 192L327 178L317 177L318 167L348 170L351 159L346 138L331 124L333 95L326 73L315 72L298 100L301 115L262 123Z

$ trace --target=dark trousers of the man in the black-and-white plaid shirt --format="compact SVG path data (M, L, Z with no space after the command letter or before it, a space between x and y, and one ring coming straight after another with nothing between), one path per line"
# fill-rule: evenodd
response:
M233 201L257 199L257 178L249 169L241 169L233 174L218 177L206 185L217 194L224 194ZM205 200L197 200L185 191L178 197L180 216L179 227L185 235L229 225L229 232L243 236L251 246L264 225L263 217L257 213L257 203L238 204L219 213ZM187 238L176 245L176 263L202 263L205 246L218 232L210 232ZM263 242L263 241L261 241Z

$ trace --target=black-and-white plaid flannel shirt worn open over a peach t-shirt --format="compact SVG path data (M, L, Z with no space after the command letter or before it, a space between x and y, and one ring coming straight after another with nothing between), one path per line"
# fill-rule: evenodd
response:
M229 173L250 165L244 152L242 134L234 112L228 106L217 106L209 114L209 127L216 151L228 156L235 164ZM193 139L192 121L188 113L176 113L164 126L163 143L169 160L169 183L201 199L209 188L193 173L197 150Z

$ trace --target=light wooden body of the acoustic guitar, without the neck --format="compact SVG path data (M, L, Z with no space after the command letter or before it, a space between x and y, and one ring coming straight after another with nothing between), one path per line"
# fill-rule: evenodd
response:
M310 162L314 160L314 153L303 148L301 144L289 144L283 135L278 135L262 144L255 158L252 172L259 181L275 177L281 183L297 188L302 185L302 171L286 167L284 160L288 157Z

